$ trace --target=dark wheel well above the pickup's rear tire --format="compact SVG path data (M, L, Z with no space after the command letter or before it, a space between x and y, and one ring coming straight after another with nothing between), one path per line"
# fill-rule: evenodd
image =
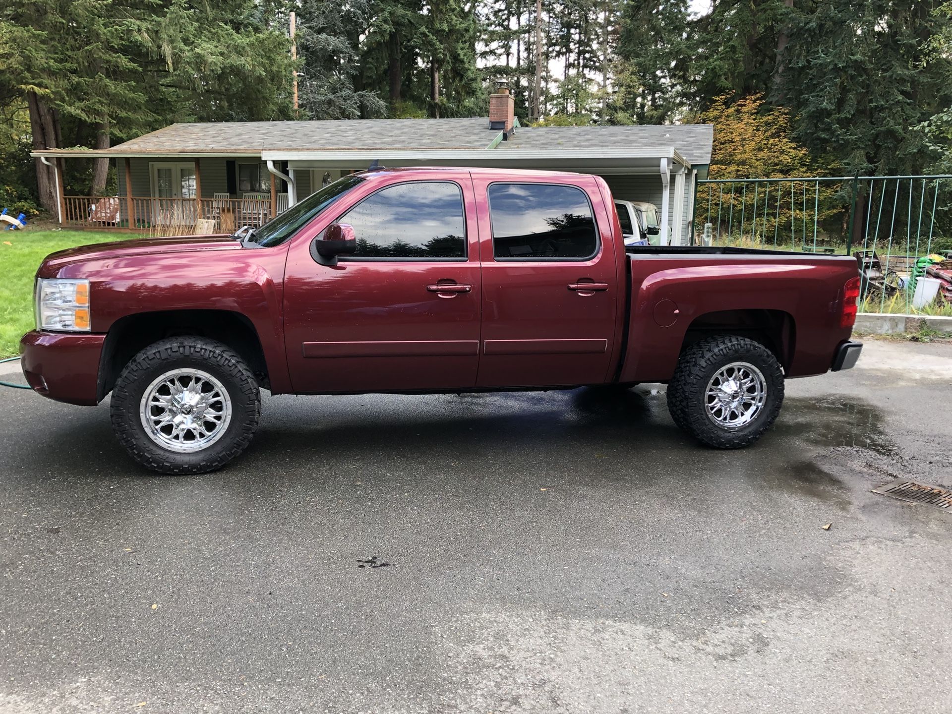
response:
M684 333L682 351L714 335L739 335L756 340L769 349L786 369L793 357L796 325L783 310L741 309L707 312L694 318Z

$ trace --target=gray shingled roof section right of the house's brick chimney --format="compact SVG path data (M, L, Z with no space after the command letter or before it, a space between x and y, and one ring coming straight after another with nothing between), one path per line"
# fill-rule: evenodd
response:
M523 127L500 149L674 147L691 166L711 163L713 124L637 127ZM593 151L597 153L597 150Z

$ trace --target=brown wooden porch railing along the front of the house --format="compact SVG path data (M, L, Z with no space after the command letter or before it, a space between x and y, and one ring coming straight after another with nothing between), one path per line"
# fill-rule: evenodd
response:
M63 223L82 228L125 228L150 235L230 233L242 226L257 228L271 215L267 193L240 198L143 198L132 196L66 196ZM288 208L288 194L278 194L277 213Z

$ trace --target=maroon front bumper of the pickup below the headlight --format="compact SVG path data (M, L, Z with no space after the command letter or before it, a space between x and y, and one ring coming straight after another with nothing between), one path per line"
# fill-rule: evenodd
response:
M20 340L23 376L38 394L57 402L94 407L105 341L106 335L34 329Z

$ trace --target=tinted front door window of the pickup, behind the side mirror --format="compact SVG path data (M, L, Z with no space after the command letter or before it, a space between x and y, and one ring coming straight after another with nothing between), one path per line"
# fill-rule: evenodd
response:
M338 219L357 235L356 258L465 258L463 192L421 182L382 188Z

